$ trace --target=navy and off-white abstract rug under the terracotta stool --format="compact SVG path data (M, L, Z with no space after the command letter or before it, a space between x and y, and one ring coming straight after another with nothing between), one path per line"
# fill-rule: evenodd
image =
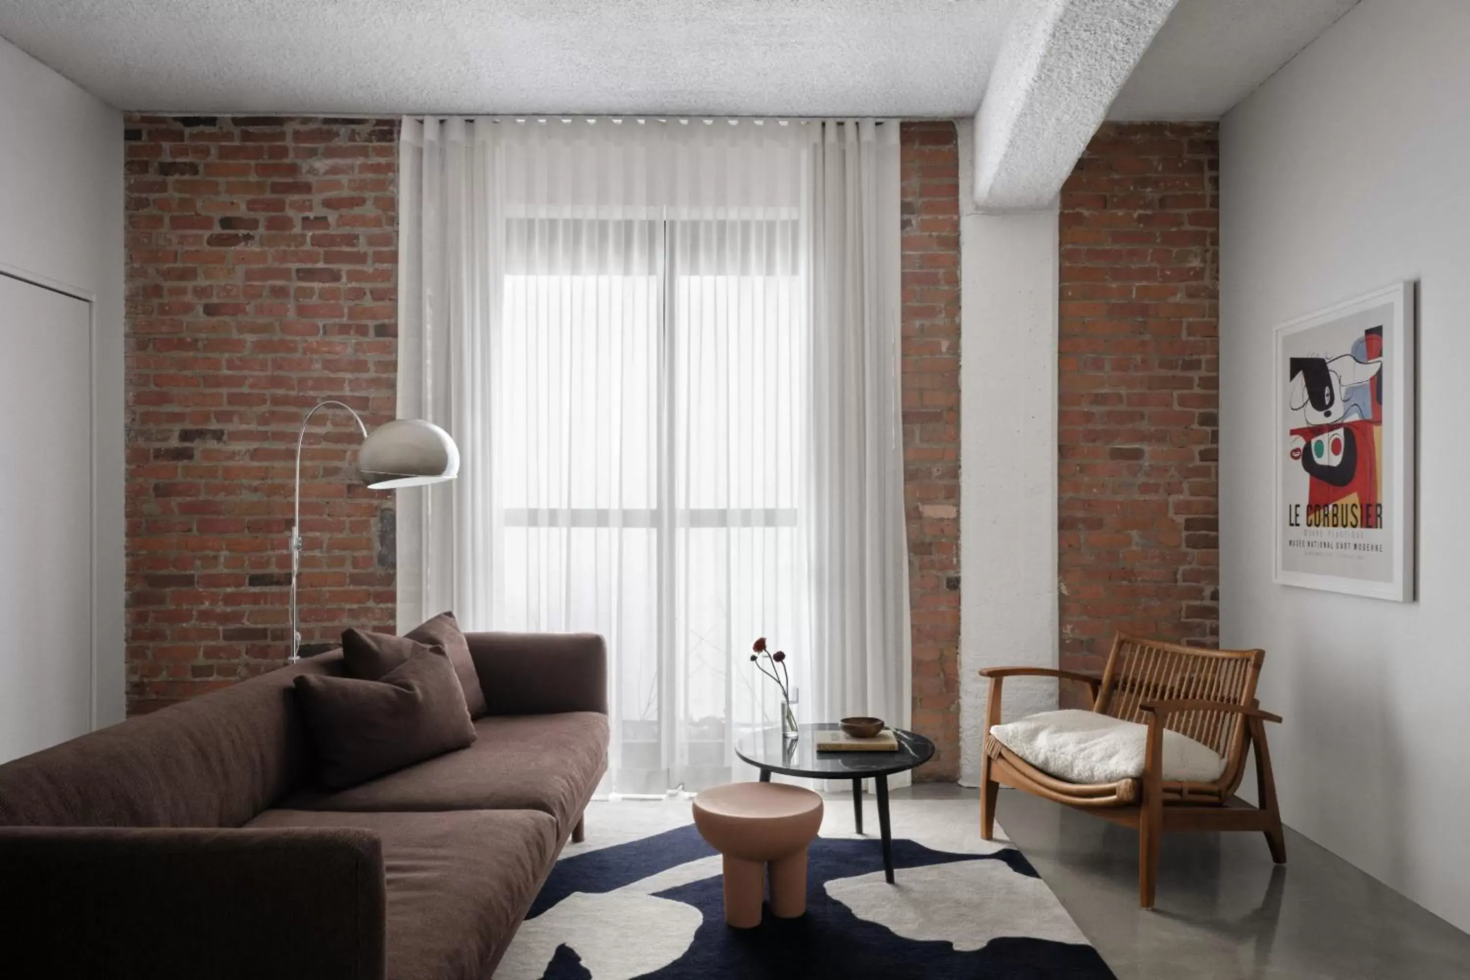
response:
M819 837L807 914L725 924L719 857L692 826L563 857L497 980L1108 980L1014 848L950 854Z

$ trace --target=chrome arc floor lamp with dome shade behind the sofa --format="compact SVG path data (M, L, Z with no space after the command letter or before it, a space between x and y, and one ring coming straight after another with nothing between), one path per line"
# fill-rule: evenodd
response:
M398 419L378 426L369 435L362 416L341 401L323 401L306 413L295 439L295 516L291 522L291 655L287 663L293 664L301 658L301 630L295 616L295 580L301 572L301 445L312 416L328 406L347 408L363 433L363 444L357 451L357 478L369 489L426 486L459 476L459 447L448 432L432 422Z

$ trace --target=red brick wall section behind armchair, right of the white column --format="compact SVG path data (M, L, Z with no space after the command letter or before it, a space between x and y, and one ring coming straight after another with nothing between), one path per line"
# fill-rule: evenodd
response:
M1217 137L1104 125L1061 192L1063 667L1219 642Z

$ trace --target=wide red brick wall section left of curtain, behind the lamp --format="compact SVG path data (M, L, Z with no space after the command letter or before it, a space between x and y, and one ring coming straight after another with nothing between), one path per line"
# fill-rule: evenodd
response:
M128 116L129 711L287 651L301 413L394 417L397 123ZM394 621L391 495L350 486L351 419L301 470L303 639Z

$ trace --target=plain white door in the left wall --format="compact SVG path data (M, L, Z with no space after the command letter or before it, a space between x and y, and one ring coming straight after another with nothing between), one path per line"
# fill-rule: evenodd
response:
M90 313L0 275L0 763L91 727Z

